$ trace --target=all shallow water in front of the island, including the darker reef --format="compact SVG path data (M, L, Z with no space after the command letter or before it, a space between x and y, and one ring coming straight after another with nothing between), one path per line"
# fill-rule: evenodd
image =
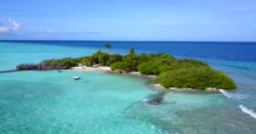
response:
M79 74L80 80L72 80ZM65 70L0 74L3 133L158 134L253 130L235 100L221 93L169 92L160 106L143 101L160 91L152 79Z

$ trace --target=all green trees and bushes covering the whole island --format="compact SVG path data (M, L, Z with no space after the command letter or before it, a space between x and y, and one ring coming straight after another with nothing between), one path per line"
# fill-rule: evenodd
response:
M109 44L105 44L107 48ZM213 70L208 64L197 59L178 59L169 54L108 54L100 50L91 56L79 58L47 59L39 64L19 64L18 70L69 69L82 63L86 66L100 64L112 70L123 72L139 71L144 75L158 75L154 82L165 88L205 88L235 89L235 82L221 71Z

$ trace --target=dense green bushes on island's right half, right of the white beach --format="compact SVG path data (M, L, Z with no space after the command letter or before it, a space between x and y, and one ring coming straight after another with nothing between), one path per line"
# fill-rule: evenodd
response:
M126 55L122 62L111 66L112 70L139 71L144 75L158 75L154 82L165 88L235 89L235 82L221 71L213 70L197 59L176 59L169 54Z

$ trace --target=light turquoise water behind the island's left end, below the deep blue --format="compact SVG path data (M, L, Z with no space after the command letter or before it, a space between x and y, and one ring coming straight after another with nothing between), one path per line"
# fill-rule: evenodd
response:
M13 70L16 68L17 64L26 62L38 63L41 62L43 59L58 59L62 57L82 57L91 55L98 50L106 52L106 48L103 47L81 47L75 45L60 46L51 44L26 44L12 42L0 42L0 48L0 71ZM128 50L113 48L109 50L109 52L126 54ZM147 53L147 51L137 51L137 53L142 52Z

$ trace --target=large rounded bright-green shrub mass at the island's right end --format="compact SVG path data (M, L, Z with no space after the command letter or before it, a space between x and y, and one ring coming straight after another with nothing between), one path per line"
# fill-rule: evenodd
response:
M234 89L235 82L223 72L212 70L210 67L181 68L163 72L154 80L165 88L205 88Z

